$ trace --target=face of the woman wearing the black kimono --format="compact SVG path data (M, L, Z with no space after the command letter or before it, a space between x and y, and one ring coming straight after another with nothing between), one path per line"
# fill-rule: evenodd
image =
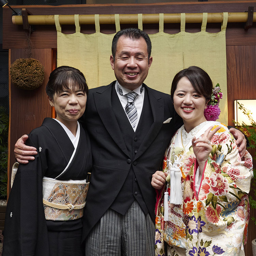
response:
M87 95L78 87L65 89L60 93L55 93L53 99L49 98L50 104L55 108L57 117L61 123L76 122L84 111Z

